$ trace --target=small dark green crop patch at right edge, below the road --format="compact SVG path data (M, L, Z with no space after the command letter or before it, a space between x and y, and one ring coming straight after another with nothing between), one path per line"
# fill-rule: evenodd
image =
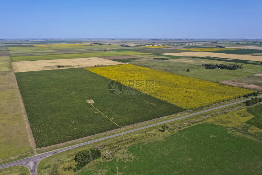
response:
M254 117L248 120L246 123L262 129L262 104L248 108L247 111L254 115Z

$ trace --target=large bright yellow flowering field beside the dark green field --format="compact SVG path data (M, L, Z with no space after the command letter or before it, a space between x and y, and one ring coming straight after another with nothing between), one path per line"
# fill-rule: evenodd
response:
M253 92L243 88L181 76L131 64L92 67L85 69L111 80L120 80L124 85L126 85L126 82L130 80L154 80L153 89L136 89L144 93L153 91L154 94L149 95L172 103L183 109L194 109Z

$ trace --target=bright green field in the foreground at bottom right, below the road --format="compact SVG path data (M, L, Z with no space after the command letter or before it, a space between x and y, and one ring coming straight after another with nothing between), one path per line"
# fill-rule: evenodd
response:
M112 161L90 163L89 174L260 174L261 142L236 137L225 127L198 124L168 137L123 148Z

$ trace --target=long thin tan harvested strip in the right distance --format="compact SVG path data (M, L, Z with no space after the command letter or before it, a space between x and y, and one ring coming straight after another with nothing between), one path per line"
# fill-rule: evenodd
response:
M163 53L162 55L196 56L196 57L210 56L210 57L228 58L228 59L241 59L247 61L262 61L262 56L214 53L214 52L178 52L178 53Z

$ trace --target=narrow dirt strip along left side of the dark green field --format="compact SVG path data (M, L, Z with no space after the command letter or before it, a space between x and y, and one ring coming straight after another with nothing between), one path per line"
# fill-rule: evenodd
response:
M14 68L13 68L12 63L11 63L10 53L9 53L9 50L8 50L7 47L6 47L6 49L7 49L7 52L8 52L9 62L10 62L11 67L12 67L12 72L14 73L14 76L15 76L15 79L16 79L16 74L14 72ZM17 95L19 97L19 102L20 102L21 110L22 110L22 113L23 113L23 118L24 118L24 121L25 121L26 129L27 129L27 135L28 135L29 143L30 143L30 146L33 149L34 153L36 154L37 153L36 152L36 144L35 144L33 132L32 132L31 127L30 127L30 123L29 123L29 120L28 120L28 116L27 116L27 113L26 113L25 106L24 106L23 98L22 98L22 95L20 93L20 90L19 90L19 87L18 87L18 84L17 84L17 80L16 80L16 89L17 89Z

